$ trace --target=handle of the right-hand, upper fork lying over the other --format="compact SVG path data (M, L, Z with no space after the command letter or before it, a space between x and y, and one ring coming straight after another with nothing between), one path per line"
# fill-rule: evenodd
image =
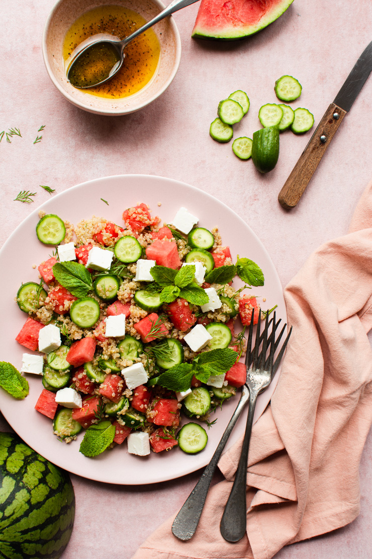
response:
M257 396L258 392L250 390L247 427L245 428L239 465L236 470L233 488L231 489L220 524L221 535L223 538L225 538L226 541L233 543L239 542L247 530L248 450Z

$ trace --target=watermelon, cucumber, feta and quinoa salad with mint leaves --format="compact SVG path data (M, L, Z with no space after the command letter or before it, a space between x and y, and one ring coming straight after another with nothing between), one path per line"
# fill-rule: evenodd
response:
M16 340L39 352L24 353L21 367L41 376L35 409L66 443L84 430L85 456L125 439L139 456L200 452L208 438L200 422L210 427L246 380L239 359L253 309L254 324L272 310L242 293L264 285L262 270L245 257L233 264L218 228L198 226L185 207L163 226L144 203L123 212L123 226L39 217L38 239L55 248L38 266L40 283L22 283L15 298L28 315ZM1 365L2 376L27 385L13 396L25 397L26 378Z

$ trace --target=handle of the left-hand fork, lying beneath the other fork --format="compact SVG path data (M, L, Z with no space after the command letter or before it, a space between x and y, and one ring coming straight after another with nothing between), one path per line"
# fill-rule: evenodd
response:
M204 508L205 499L207 492L209 490L213 474L215 472L216 466L225 447L225 444L230 436L231 431L234 428L236 421L243 411L245 404L249 400L249 391L247 387L243 386L243 392L241 392L239 404L236 406L233 416L231 417L228 426L225 429L224 434L218 444L218 447L213 454L211 461L202 473L200 480L195 485L194 489L191 491L189 497L186 499L185 504L183 504L180 512L177 514L173 525L172 532L174 536L183 541L187 541L192 538L195 534L197 524L199 523L200 515ZM246 468L247 469L247 468Z

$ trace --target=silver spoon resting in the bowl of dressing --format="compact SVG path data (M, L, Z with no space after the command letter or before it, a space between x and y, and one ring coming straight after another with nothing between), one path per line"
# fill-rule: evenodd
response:
M77 87L79 89L95 87L99 86L102 83L108 82L108 80L113 78L114 75L117 74L122 67L125 58L124 49L129 42L133 41L133 39L136 39L138 35L141 35L141 33L149 29L149 27L155 25L155 23L158 23L165 17L170 16L173 12L177 12L178 10L185 8L186 6L190 6L190 4L194 4L194 2L197 1L198 0L173 0L173 2L171 2L169 6L165 8L165 10L160 12L157 16L153 17L152 20L142 25L142 27L139 27L139 29L137 29L137 31L134 31L132 35L125 37L125 39L123 39L122 41L120 41L119 37L115 37L114 35L106 33L99 33L96 35L92 35L91 37L89 37L89 39L85 39L73 50L73 52L65 62L67 79L70 83L73 84L74 87ZM88 55L91 48L94 47L95 49L97 49L100 46L107 50L110 49L116 58L112 68L108 70L107 77L101 79L99 82L93 84L89 83L89 85L78 85L76 84L76 82L74 83L73 81L71 81L70 78L73 77L73 69L76 69L76 63L78 63L79 60L81 62L81 57Z

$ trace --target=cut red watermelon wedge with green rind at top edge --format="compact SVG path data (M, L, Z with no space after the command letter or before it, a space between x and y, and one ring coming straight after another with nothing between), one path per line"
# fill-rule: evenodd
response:
M201 0L192 37L231 41L277 20L293 0Z

